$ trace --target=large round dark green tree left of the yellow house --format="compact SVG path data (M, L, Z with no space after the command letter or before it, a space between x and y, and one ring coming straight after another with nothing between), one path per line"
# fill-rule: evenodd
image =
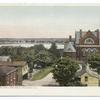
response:
M78 63L70 58L59 59L54 66L54 79L60 86L78 86L80 81L75 77L78 68Z

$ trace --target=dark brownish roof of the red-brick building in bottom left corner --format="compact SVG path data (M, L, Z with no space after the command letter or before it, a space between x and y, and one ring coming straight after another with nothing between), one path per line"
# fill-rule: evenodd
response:
M2 66L0 67L0 76L4 76L7 74L10 74L14 71L16 71L17 69L15 67L9 67L9 66Z

